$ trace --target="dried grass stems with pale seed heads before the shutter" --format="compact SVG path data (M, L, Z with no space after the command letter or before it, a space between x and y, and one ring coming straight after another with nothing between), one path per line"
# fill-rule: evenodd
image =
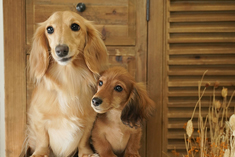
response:
M215 91L219 86L219 82L216 81L213 85L213 97L212 102L208 110L208 115L202 117L201 113L201 99L207 89L210 86L207 83L201 92L202 81L207 71L202 76L200 82L198 82L198 101L195 105L191 119L186 125L185 149L187 155L183 157L235 157L235 114L230 118L228 117L228 108L231 104L235 91L233 91L230 100L227 101L228 89L223 88L221 96L223 102L216 100ZM192 139L193 118L195 111L198 108L198 137ZM228 121L229 120L229 121ZM207 128L207 126L209 128ZM207 134L209 131L209 134ZM176 151L173 154L176 156ZM179 156L179 153L177 154Z

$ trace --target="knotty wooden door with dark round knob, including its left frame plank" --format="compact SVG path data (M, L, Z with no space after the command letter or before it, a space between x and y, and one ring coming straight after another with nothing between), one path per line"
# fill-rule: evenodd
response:
M26 111L33 84L27 79L27 60L36 24L53 12L76 11L77 0L4 0L6 156L21 152L25 138ZM77 12L94 21L109 53L110 66L123 66L138 81L146 82L146 0L84 0L86 10ZM12 11L12 8L15 10ZM13 77L13 78L12 78ZM146 134L141 156L146 154Z

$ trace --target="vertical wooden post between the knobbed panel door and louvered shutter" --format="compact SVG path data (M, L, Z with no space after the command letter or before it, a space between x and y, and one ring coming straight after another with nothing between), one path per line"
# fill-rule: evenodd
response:
M148 90L156 112L147 121L147 157L161 157L163 150L163 61L165 57L165 0L150 1L148 22Z

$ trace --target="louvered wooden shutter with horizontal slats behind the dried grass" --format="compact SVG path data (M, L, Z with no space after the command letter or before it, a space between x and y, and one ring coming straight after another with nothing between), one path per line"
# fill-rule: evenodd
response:
M235 1L167 0L166 85L163 118L164 148L170 153L185 151L184 123L192 116L198 100L198 81L208 70L202 85L213 85L220 99L222 87L230 97L235 85ZM202 99L202 115L212 98L209 87ZM232 101L231 106L234 106ZM194 128L197 129L197 113ZM194 131L196 132L196 131ZM196 136L197 134L195 134ZM167 144L165 144L167 143Z

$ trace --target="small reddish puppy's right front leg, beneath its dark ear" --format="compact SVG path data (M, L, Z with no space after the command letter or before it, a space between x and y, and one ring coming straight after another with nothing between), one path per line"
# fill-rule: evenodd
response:
M138 150L140 148L141 135L142 132L140 128L137 132L131 134L126 146L124 157L140 157Z

